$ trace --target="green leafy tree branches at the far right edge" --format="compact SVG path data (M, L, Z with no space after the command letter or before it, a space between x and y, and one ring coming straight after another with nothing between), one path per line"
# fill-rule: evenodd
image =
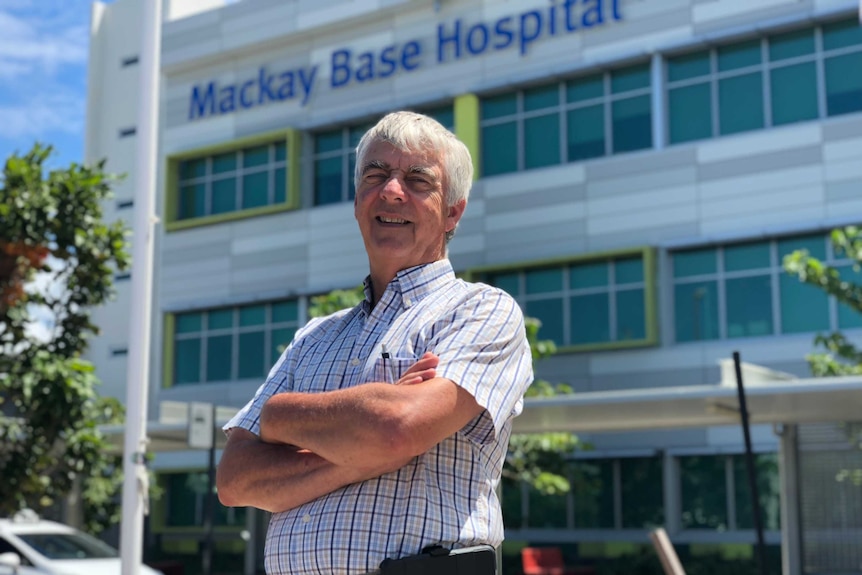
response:
M835 255L850 259L853 262L853 270L858 273L862 268L862 229L848 226L832 230L831 240ZM837 269L811 257L807 251L798 250L785 256L784 269L801 281L835 296L835 299L856 313L862 314L862 285L842 279ZM805 359L815 377L862 374L862 351L844 334L817 334L814 344L822 350L807 355ZM862 424L845 423L844 432L851 443L862 448ZM842 469L837 479L862 485L862 469Z

